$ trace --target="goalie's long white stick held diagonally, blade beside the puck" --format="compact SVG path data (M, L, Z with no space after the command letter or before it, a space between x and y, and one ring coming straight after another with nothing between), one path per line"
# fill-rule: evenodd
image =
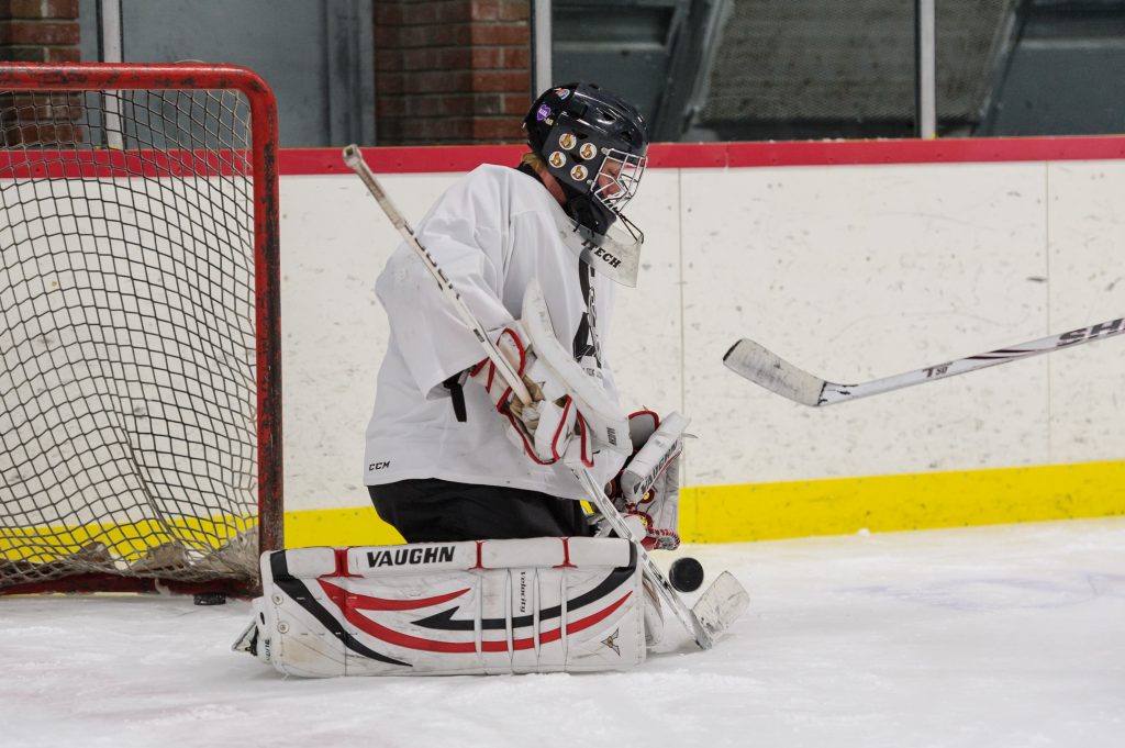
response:
M398 208L390 201L382 186L379 184L375 174L368 168L367 163L363 161L363 156L360 153L359 146L349 145L343 150L344 163L352 169L360 180L367 187L371 196L375 197L379 207L386 214L390 223L394 224L395 228L403 236L406 243L414 250L414 253L422 260L426 270L433 276L433 279L438 282L438 287L441 289L442 296L453 305L457 310L458 316L460 316L461 322L465 326L476 335L477 341L484 348L485 353L488 355L488 360L496 366L496 370L501 372L504 380L515 393L515 396L524 405L531 403L531 394L528 391L526 386L523 384L523 379L515 371L508 360L500 352L496 344L488 337L485 333L484 327L474 316L472 310L469 309L468 305L461 298L461 295L457 291L457 288L450 282L446 273L442 272L441 268L434 261L433 256L426 251L422 243L418 242L414 232L411 229L410 224L399 213ZM700 596L695 602L694 607L687 607L687 604L682 597L675 592L668 577L660 570L660 567L656 565L652 558L645 550L645 547L633 538L632 533L629 531L629 525L626 524L624 517L618 513L614 508L613 503L605 495L605 492L597 481L591 475L590 470L582 466L567 466L572 472L574 472L575 478L578 480L579 485L586 493L588 501L597 508L597 511L606 519L613 530L618 533L620 538L628 538L630 542L637 550L638 558L644 567L645 578L651 583L660 598L667 604L673 614L683 623L684 628L695 640L695 643L701 649L711 649L714 646L716 637L726 631L731 623L746 610L749 604L749 595L746 589L738 583L737 579L729 573L723 571L719 577L711 584L711 586Z

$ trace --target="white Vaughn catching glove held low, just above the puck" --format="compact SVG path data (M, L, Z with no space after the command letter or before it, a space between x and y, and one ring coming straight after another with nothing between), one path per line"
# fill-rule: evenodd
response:
M678 413L663 421L651 411L629 416L633 454L606 493L647 550L680 547L680 456L687 423Z

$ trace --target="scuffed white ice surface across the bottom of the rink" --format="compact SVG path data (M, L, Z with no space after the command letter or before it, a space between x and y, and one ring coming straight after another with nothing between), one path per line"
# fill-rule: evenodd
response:
M750 611L624 674L285 679L246 603L0 598L0 746L1125 746L1125 519L685 550Z

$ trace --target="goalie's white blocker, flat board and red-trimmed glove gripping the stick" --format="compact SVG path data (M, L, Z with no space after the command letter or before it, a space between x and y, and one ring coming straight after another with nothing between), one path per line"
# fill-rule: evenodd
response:
M496 348L520 375L532 402L524 404L490 359L469 370L507 421L507 436L540 465L570 460L593 467L594 452L632 451L624 435L629 423L618 404L559 343L536 281L523 295L523 317L494 337Z

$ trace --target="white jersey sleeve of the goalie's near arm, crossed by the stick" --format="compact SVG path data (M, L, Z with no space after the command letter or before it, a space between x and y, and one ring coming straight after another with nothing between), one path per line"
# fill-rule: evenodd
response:
M498 333L514 317L500 298L505 232L495 216L502 214L503 196L488 188L462 180L439 199L416 235L482 326ZM380 273L376 294L406 367L428 397L442 396L439 386L446 379L485 358L476 336L405 243Z

